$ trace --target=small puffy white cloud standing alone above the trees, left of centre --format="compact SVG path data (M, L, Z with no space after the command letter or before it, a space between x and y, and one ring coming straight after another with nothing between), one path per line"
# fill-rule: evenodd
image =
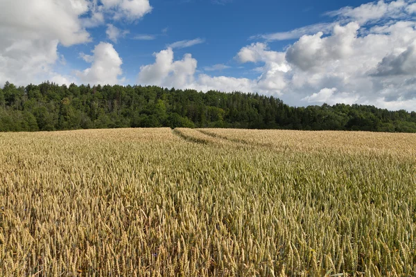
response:
M81 82L89 84L118 84L119 75L123 73L123 61L112 44L101 42L92 51L94 55L83 55L84 60L92 62L91 67L77 71Z

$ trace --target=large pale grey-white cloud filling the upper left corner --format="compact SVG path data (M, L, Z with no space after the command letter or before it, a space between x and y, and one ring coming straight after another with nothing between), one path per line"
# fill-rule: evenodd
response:
M24 11L24 16L22 16ZM58 44L89 42L79 17L88 11L85 0L0 1L0 86L42 82L57 73Z

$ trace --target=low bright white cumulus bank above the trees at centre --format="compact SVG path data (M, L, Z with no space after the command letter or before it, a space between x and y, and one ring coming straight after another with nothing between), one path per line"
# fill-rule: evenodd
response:
M253 44L252 48L262 48L262 46ZM267 62L265 66L268 68L267 72L259 76L257 80L226 76L211 77L207 74L196 76L197 61L191 57L191 54L185 54L182 60L174 61L172 48L167 48L154 55L155 63L141 66L137 78L139 84L155 84L162 87L196 89L199 91L210 89L218 91L258 91L275 95L278 95L280 90L286 86L283 73L287 70L287 64L279 64L279 62L284 62L284 53L268 51L266 46L263 46L261 57L258 57L259 60L266 60L263 55L275 57L275 60Z

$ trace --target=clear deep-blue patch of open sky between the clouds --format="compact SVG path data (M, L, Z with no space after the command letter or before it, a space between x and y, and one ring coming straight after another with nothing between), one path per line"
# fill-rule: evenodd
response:
M330 22L325 12L345 6L359 6L365 1L273 1L273 0L155 0L152 12L133 23L116 22L114 26L130 33L121 37L114 48L123 58L123 72L129 84L134 84L139 66L150 64L154 52L182 40L203 39L205 42L189 48L180 48L175 56L191 52L198 60L198 68L225 64L231 66L212 75L227 73L233 77L254 77L250 71L255 64L239 64L234 59L242 46L254 42L250 37L262 33L286 32L319 22ZM77 59L80 52L89 53L96 42L106 41L107 26L92 28L94 40L73 48L60 47L67 60L75 67L88 64ZM151 40L134 39L139 35L153 36ZM271 42L270 48L283 50L295 39ZM240 68L239 68L240 67ZM243 67L243 68L241 68Z

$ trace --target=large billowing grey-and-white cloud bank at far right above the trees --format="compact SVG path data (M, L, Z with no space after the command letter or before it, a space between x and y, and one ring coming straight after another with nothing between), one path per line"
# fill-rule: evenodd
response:
M359 31L364 35L357 35ZM308 91L335 87L352 95L347 100L379 103L380 107L414 99L411 76L416 73L415 24L397 21L371 28L361 26L358 32L352 24L336 26L329 37L304 36L289 47L286 59L293 70L291 76L286 76L290 78L286 96L292 94L295 98ZM342 39L338 38L340 33ZM336 96L326 102L346 102ZM303 99L311 102L314 98Z

